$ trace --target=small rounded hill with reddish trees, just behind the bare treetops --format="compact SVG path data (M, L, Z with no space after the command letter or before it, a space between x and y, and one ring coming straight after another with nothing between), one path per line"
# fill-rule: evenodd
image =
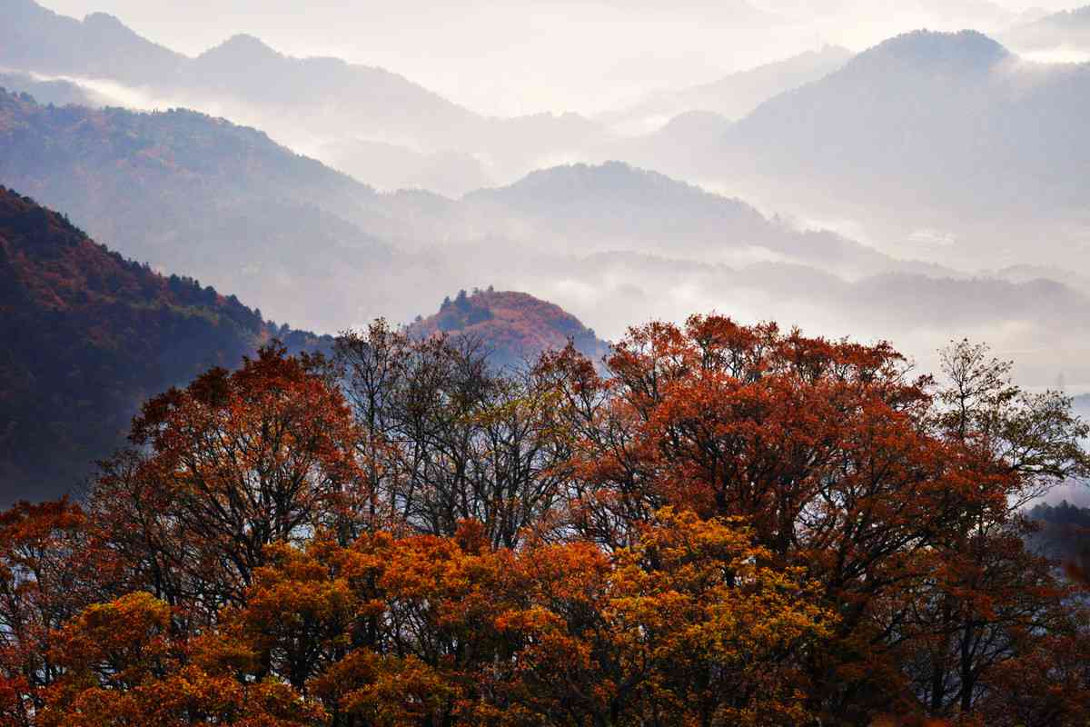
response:
M409 327L414 337L445 334L465 336L480 342L489 360L500 366L532 363L545 351L562 349L571 341L576 349L598 360L609 344L594 330L560 306L513 291L460 291L447 298L439 312L417 319Z

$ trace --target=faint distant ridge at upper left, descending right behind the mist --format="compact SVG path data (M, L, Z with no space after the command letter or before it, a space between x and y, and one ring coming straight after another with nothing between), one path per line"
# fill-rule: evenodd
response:
M477 114L397 73L336 58L293 58L235 35L196 58L158 46L114 17L58 15L5 0L0 68L117 80L170 106L215 108L263 120L280 138L364 140L485 160L497 180L603 144L605 131L577 114L513 119Z

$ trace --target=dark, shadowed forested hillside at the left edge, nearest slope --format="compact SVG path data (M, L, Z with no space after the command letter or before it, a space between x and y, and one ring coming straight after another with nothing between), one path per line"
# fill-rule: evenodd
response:
M0 187L0 499L57 496L124 438L148 396L234 366L274 336L259 311L166 278Z

